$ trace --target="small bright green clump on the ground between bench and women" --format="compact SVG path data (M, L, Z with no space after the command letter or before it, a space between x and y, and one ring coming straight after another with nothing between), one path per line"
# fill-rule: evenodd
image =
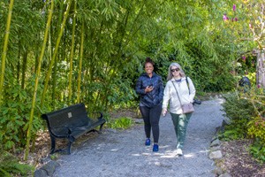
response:
M133 121L127 117L121 117L118 119L111 119L108 121L107 126L114 129L127 129L133 126Z

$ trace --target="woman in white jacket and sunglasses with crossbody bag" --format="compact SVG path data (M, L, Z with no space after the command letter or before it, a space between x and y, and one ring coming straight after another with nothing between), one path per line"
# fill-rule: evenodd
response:
M163 92L163 116L165 116L168 104L170 103L170 115L177 135L177 155L179 156L183 155L182 149L186 139L186 127L192 116L192 113L185 114L182 112L181 104L193 103L194 96L195 88L193 81L189 77L186 77L178 63L172 63L169 67L167 84Z

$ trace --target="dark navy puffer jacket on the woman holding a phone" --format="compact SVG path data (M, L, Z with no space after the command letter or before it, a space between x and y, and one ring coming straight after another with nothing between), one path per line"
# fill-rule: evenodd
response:
M154 89L145 93L145 89L152 85ZM140 103L148 107L162 104L163 81L162 78L153 72L150 78L147 73L142 73L136 82L136 93L140 95Z

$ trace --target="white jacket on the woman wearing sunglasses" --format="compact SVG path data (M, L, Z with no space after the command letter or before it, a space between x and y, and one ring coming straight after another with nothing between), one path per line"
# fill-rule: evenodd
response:
M190 93L188 89L188 85L186 83L186 79L188 81L188 85L190 88ZM173 86L173 83L178 90L178 95L176 89ZM168 108L168 104L170 102L170 112L176 114L182 114L181 105L178 100L178 96L180 97L181 104L189 104L193 103L193 98L195 96L195 88L193 85L193 81L189 77L181 78L180 82L176 82L174 79L168 81L166 87L163 91L163 109Z

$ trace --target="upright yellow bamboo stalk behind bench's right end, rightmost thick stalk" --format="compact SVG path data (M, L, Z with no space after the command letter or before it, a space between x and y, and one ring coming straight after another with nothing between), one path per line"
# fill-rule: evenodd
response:
M78 95L77 95L77 102L78 103L80 101L83 52L84 52L84 19L82 20L82 28L81 28L81 44L80 44L79 76L78 76Z

